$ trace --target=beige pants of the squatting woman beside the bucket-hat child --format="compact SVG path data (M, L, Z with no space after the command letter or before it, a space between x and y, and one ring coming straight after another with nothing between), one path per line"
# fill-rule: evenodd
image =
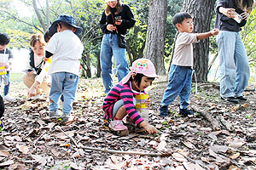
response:
M32 74L32 75L25 74L23 76L22 79L23 79L23 82L24 82L24 84L26 85L27 88L31 88L32 87L32 84L35 82L35 78L36 77L37 77L36 74ZM43 89L44 95L48 97L49 96L49 86L47 85L46 81L42 82L38 86L38 88L36 88L37 94L41 94L40 88Z

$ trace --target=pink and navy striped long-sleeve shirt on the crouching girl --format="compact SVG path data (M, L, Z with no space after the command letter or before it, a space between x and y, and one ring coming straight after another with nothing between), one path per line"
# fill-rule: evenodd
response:
M119 82L116 86L114 86L104 99L102 109L105 111L104 117L106 119L112 118L112 112L113 112L113 105L119 100L122 99L124 101L125 110L128 114L128 116L131 117L131 119L136 123L139 124L143 122L143 117L138 114L138 112L135 110L135 105L133 104L133 96L137 94L134 94L131 91L130 82L126 82L125 84L122 84Z

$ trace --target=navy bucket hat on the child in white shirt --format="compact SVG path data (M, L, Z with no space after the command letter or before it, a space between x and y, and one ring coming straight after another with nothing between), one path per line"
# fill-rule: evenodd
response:
M49 26L49 32L51 34L55 34L57 32L57 23L60 22L65 22L70 26L73 26L74 28L76 28L76 31L74 31L74 33L78 36L82 31L83 28L81 28L80 26L76 26L76 21L73 18L73 16L69 15L69 14L61 14L57 20L55 20L51 26Z

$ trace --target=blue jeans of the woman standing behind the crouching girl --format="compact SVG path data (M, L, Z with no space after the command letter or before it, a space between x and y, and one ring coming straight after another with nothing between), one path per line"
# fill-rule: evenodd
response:
M108 94L113 88L112 74L112 56L117 69L119 82L129 72L128 62L126 58L126 49L119 48L116 34L105 34L102 39L101 48L101 67L102 67L102 81L104 85L104 93Z

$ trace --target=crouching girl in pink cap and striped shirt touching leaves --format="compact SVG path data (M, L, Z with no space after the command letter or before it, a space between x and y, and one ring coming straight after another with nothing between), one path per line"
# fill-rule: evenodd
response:
M105 111L104 118L114 131L127 130L122 119L128 115L139 127L143 127L148 133L157 133L154 126L143 120L143 117L135 109L135 96L145 94L157 77L153 63L148 59L137 59L132 63L131 72L115 85L104 99L102 106Z

